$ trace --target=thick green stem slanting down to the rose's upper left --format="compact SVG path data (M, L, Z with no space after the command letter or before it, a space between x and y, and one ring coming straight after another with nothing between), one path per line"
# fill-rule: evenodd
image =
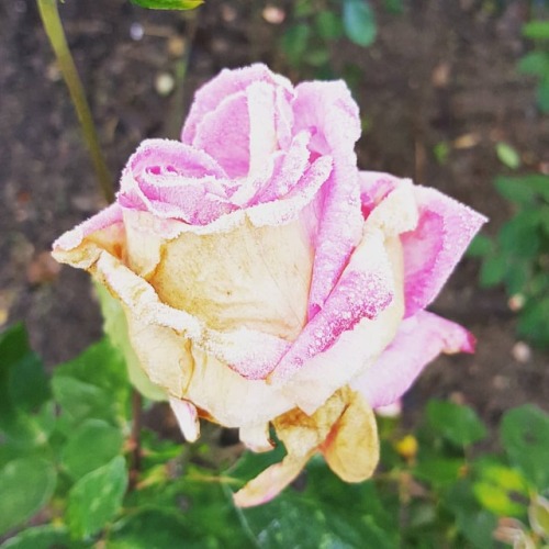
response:
M91 117L91 111L86 100L82 82L78 76L78 71L67 45L65 31L63 30L57 0L36 0L38 4L42 23L46 31L47 37L54 49L59 70L70 93L70 99L75 107L80 127L83 133L83 138L88 146L88 150L96 169L99 186L108 202L114 201L114 191L112 188L112 178L107 167L99 138Z

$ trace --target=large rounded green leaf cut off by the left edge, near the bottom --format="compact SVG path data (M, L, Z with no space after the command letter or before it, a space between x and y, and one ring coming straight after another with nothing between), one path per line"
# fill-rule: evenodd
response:
M57 474L40 458L10 461L0 470L0 534L20 526L52 497Z

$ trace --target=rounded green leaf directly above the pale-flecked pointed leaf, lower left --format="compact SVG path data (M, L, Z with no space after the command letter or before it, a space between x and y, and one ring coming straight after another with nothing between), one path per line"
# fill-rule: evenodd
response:
M117 456L123 441L119 428L101 419L87 419L71 434L61 463L72 479L79 479Z

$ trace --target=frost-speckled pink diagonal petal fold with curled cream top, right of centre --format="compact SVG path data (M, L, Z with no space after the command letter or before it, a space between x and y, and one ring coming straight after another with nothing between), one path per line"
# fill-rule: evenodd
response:
M307 361L326 352L343 334L352 330L365 320L377 318L393 301L396 301L396 316L401 314L402 250L399 235L415 226L416 221L412 184L402 184L391 192L363 224L362 239L352 253L336 287L321 312L309 321L288 354L270 374L271 381L280 383L288 380L304 368ZM389 334L396 316L393 313L389 315L391 320L388 324ZM377 348L371 341L368 345ZM381 350L382 348L378 352ZM320 360L322 361L322 358ZM356 360L350 363L356 363ZM357 371L348 362L345 369L334 370L339 373L348 371L349 377L344 379L344 382L351 379L350 376ZM322 379L332 377L334 373L329 372L322 376ZM326 386L329 385L330 383L326 383Z

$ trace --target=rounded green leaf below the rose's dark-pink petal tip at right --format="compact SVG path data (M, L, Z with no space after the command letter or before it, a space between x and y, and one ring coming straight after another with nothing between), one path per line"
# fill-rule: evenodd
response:
M459 447L470 446L486 436L484 424L469 406L432 400L426 417L435 433Z

